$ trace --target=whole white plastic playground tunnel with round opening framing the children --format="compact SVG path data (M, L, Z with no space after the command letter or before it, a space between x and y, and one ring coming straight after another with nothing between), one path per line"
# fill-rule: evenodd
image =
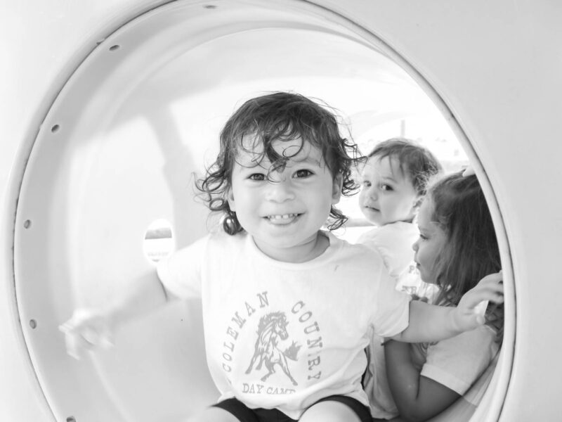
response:
M0 421L181 421L215 398L200 307L75 361L58 326L153 265L145 232L206 231L192 172L242 101L322 98L355 136L445 124L502 248L504 346L472 421L562 411L562 6L499 0L64 0L0 13ZM382 95L384 94L384 96ZM384 101L382 100L384 98Z

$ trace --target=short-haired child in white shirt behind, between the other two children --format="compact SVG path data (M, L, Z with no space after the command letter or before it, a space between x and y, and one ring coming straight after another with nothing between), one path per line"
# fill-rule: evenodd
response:
M419 297L431 298L437 289L421 281L414 263L412 245L419 236L414 219L427 182L441 171L431 151L410 139L393 138L375 146L361 172L359 205L376 227L362 234L358 243L379 253L397 290ZM397 412L386 381L383 340L372 335L363 379L374 418L388 418Z

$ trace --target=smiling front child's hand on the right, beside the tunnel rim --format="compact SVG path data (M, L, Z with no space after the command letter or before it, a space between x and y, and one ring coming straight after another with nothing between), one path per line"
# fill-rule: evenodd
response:
M476 287L464 293L453 313L455 326L459 331L473 330L485 323L484 312L488 300L495 303L504 301L502 279L502 271L488 274Z

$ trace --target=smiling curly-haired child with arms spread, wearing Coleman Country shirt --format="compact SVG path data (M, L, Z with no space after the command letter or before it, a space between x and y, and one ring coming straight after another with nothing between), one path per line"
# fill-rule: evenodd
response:
M221 395L190 421L370 422L360 380L371 331L449 338L482 324L478 302L502 298L488 282L455 308L410 302L372 250L322 230L346 219L335 205L353 191L355 152L309 98L280 92L244 103L197 184L223 213L221 227L159 262L115 304L75 312L63 326L68 352L167 301L201 298Z

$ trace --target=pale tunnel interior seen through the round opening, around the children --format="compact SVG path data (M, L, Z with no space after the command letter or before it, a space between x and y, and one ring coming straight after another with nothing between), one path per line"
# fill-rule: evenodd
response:
M170 222L177 247L206 233L192 174L214 156L221 125L245 99L277 90L321 98L365 148L398 134L441 136L447 148L464 148L452 165L470 159L485 177L450 111L383 41L323 8L291 5L155 8L101 41L48 110L22 180L14 264L25 341L57 420L174 420L216 397L197 303L130 324L115 350L80 362L66 356L57 327L74 307L107 300L153 265L143 251L152 222ZM428 120L431 135L417 127ZM485 397L488 420L504 390Z

